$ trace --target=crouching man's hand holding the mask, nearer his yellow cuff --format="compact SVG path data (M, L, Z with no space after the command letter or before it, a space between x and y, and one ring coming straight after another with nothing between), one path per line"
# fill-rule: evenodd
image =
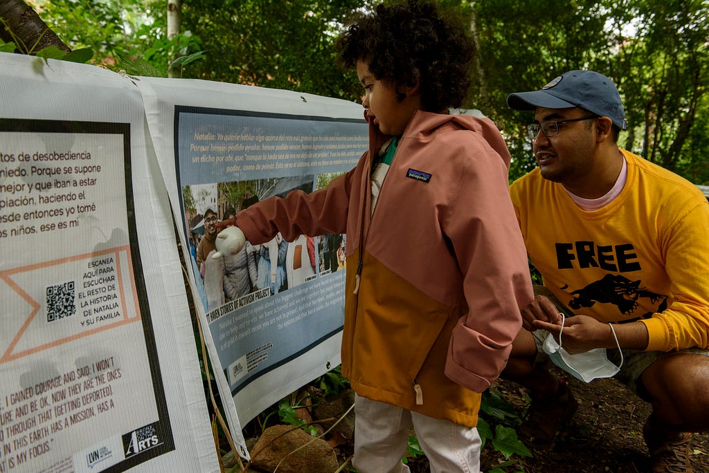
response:
M537 319L532 325L535 329L549 331L554 336L554 340L559 341L559 332L562 332L561 321L559 324L549 324ZM587 315L566 318L561 345L570 355L593 350L593 348L615 348L616 346L610 326Z

